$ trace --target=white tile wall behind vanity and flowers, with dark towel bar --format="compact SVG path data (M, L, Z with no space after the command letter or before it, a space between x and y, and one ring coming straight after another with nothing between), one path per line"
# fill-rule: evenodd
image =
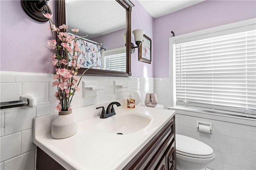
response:
M88 93L83 98L80 91L72 100L72 109L127 98L130 92L136 104L144 104L145 94L154 91L154 78L127 78L110 76L84 76L81 81L96 84L103 90ZM127 85L114 89L118 85ZM0 102L19 100L25 93L37 98L35 108L12 108L0 111L0 169L34 170L36 146L32 143L34 117L56 113L58 102L54 98L56 87L52 87L52 74L0 72Z

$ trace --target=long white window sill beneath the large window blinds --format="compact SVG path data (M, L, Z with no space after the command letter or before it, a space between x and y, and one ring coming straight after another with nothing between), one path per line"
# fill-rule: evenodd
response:
M210 113L206 111L200 111L197 109L188 109L184 107L168 107L168 109L176 110L176 114L189 115L194 117L202 117L205 119L213 119L218 121L226 121L230 123L238 123L242 125L256 126L256 120L249 117L239 117L234 115L222 115L218 113Z

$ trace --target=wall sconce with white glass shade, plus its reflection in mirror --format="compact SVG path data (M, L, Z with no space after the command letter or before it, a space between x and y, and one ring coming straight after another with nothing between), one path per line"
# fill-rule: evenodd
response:
M132 33L134 35L134 40L137 45L137 47L135 47L134 44L131 43L131 53L133 54L135 51L135 48L140 48L140 44L142 43L142 38L145 31L143 29L134 29ZM122 36L124 37L124 44L126 45L126 33L123 33Z

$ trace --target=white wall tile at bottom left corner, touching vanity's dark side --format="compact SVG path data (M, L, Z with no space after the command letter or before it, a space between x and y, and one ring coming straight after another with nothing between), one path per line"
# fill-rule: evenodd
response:
M35 169L35 150L26 152L15 158L4 162L6 170L34 170Z

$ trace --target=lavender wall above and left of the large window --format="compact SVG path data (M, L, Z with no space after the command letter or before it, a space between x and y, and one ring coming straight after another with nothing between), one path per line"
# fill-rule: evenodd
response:
M256 17L255 0L206 0L154 19L154 77L169 77L169 37Z

